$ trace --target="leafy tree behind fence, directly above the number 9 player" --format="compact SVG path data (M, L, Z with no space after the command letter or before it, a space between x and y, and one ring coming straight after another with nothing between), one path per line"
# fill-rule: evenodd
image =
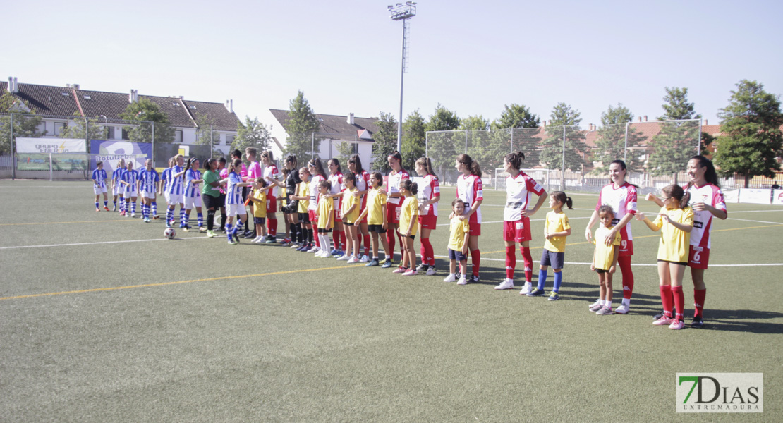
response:
M613 160L624 160L628 171L638 172L643 170L644 162L640 155L634 152L644 140L636 128L627 125L628 137L626 141L626 124L633 120L633 113L622 103L617 107L609 108L601 113L601 129L598 130L595 140L593 160L601 162L601 167L596 167L596 173L605 173L609 170L609 164ZM626 155L626 142L628 154Z

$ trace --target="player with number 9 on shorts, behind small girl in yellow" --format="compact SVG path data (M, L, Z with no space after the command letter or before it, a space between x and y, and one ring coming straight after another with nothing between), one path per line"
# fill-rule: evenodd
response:
M622 271L622 304L615 309L615 313L619 314L628 313L633 295L633 271L631 271L633 235L631 235L631 226L628 223L637 213L637 186L626 182L627 174L626 163L622 160L615 160L609 165L609 179L612 183L601 188L598 203L585 229L585 238L587 238L587 242L590 242L593 238L593 232L590 231L590 228L593 228L593 225L598 221L598 209L608 205L615 210L615 219L612 220L614 228L606 235L603 242L607 246L611 245L615 234L619 231L620 253L617 263ZM597 301L594 305L596 304Z

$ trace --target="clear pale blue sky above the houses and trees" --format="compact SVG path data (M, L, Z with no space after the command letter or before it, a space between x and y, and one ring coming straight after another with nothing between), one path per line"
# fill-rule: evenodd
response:
M287 109L298 90L316 113L396 116L402 23L389 4L12 2L0 69L22 83L233 99L240 119ZM677 86L716 124L742 79L783 93L781 18L770 0L421 0L403 113L428 117L441 103L493 120L519 103L548 118L565 102L586 127L618 102L653 119Z

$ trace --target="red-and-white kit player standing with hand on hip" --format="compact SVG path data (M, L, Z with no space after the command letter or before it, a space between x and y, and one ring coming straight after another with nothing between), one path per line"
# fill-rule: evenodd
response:
M532 177L521 170L524 152L512 152L503 157L503 170L506 177L506 206L503 208L503 242L506 246L506 278L495 289L514 288L514 270L517 267L517 255L514 247L519 242L519 252L525 263L525 285L522 295L533 291L533 258L530 254L530 217L547 201L547 191ZM528 210L532 195L539 196L536 205Z

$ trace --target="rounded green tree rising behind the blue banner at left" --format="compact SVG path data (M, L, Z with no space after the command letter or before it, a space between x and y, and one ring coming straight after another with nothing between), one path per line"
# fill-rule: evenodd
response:
M119 114L120 119L128 120L133 127L128 129L131 142L174 142L175 128L171 126L168 115L150 99L139 99L125 107ZM153 141L153 127L155 139Z

